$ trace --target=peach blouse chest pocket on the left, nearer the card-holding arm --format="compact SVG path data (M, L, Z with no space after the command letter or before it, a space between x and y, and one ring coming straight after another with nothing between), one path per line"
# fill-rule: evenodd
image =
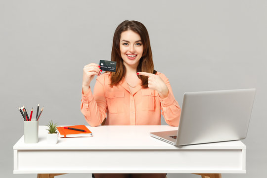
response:
M124 111L124 91L106 91L105 95L109 113L117 114Z

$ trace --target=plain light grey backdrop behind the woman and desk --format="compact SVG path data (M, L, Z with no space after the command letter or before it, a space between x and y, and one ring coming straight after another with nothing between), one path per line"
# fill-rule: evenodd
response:
M87 125L83 66L110 60L113 33L126 19L147 27L155 69L169 78L180 105L185 91L257 89L243 140L247 174L223 178L267 177L265 0L0 0L0 177L36 178L13 175L12 146L23 134L18 106L45 106L40 125Z

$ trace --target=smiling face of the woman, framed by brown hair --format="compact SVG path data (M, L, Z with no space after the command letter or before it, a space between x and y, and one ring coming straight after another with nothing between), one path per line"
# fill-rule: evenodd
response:
M144 50L140 35L132 30L122 32L120 50L124 65L137 67Z

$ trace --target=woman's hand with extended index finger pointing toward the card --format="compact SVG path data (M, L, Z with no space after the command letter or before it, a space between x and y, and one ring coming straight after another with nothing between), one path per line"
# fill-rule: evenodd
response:
M160 76L147 73L147 72L137 72L137 75L143 75L148 77L148 88L155 89L158 91L159 96L163 99L169 94L169 89L165 82L160 78Z

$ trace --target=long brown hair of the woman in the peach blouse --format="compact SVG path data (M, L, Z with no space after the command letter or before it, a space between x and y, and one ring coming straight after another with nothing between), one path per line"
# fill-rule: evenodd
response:
M143 55L139 60L136 72L148 72L156 74L157 71L154 70L154 64L152 60L152 51L150 47L150 40L148 32L145 26L141 22L125 20L122 22L114 32L113 44L111 51L111 61L116 61L116 72L111 72L111 86L119 84L122 81L126 74L126 68L123 65L123 59L121 56L120 50L120 39L122 32L127 30L132 30L135 33L139 34L143 44ZM147 88L147 78L146 76L138 76L142 81L142 87Z

